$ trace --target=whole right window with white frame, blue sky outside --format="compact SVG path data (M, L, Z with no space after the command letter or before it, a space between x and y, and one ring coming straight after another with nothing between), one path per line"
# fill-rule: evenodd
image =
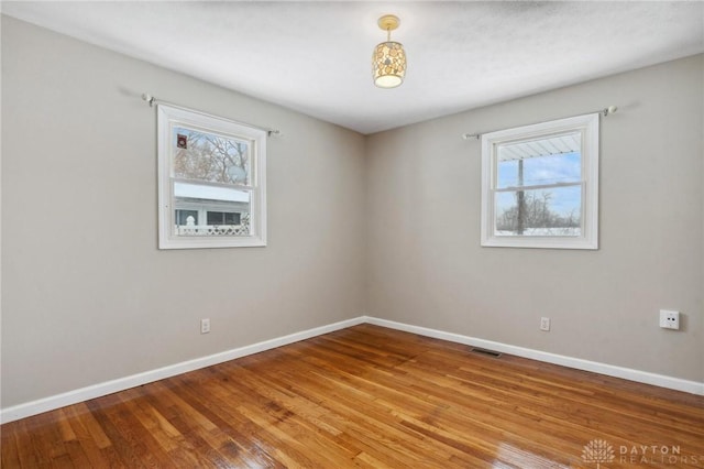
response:
M482 135L482 246L597 249L598 114Z

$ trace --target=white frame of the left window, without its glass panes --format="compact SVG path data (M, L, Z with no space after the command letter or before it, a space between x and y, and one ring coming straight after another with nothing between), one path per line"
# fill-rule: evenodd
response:
M266 246L266 130L174 105L157 103L158 249L249 248ZM251 145L250 185L205 183L250 193L249 236L179 236L175 232L174 128L188 128L246 141ZM194 208L188 208L193 210ZM237 211L237 210L233 210ZM205 215L205 214L204 214Z

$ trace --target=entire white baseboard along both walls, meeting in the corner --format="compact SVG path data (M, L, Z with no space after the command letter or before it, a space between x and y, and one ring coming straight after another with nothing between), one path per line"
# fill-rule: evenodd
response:
M264 350L274 349L288 343L294 343L311 337L321 336L334 330L344 329L346 327L356 326L359 324L369 323L391 329L404 330L406 332L418 334L420 336L432 337L436 339L448 340L451 342L464 343L473 347L496 350L503 353L510 353L518 357L530 358L534 360L544 361L548 363L561 364L563 367L575 368L578 370L592 371L595 373L606 374L615 378L623 378L640 383L653 384L661 388L668 388L676 391L684 391L692 394L704 395L704 383L696 381L688 381L679 378L666 377L663 374L649 373L647 371L632 370L629 368L615 367L613 364L600 363L595 361L582 360L579 358L565 357L556 353L549 353L540 350L516 347L492 340L477 339L475 337L462 336L459 334L446 332L442 330L430 329L427 327L411 326L408 324L396 323L393 320L380 319L371 316L360 316L353 319L342 320L340 323L327 326L316 327L300 332L290 334L288 336L278 337L271 340L227 350L220 353L184 361L182 363L172 364L156 370L145 371L143 373L120 378L103 383L94 384L75 391L44 397L12 407L0 410L0 423L8 423L43 412L53 411L66 405L76 404L88 401L90 399L100 397L118 391L124 391L130 388L151 383L153 381L163 380L176 374L186 373L188 371L198 370L200 368L210 367L237 358L258 353Z

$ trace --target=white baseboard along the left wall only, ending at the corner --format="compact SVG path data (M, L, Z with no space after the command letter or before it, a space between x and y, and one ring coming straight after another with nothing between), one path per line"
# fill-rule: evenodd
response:
M113 392L118 391L124 391L130 388L135 388L142 384L163 380L165 378L175 377L176 374L186 373L188 371L198 370L200 368L210 367L229 360L234 360L248 355L258 353L264 350L294 343L300 340L309 339L311 337L321 336L334 330L356 326L358 324L362 323L364 323L364 317L342 320L340 323L316 327L300 332L290 334L288 336L264 340L251 346L239 347L237 349L227 350L220 353L170 364L168 367L158 368L156 370L145 371L143 373L132 374L130 377L119 378L117 380L106 381L103 383L94 384L75 391L69 391L24 404L14 405L12 407L2 408L0 410L0 423L4 424L8 422L18 421L20 418L53 411L66 405L72 405L79 402L88 401L90 399L112 394Z

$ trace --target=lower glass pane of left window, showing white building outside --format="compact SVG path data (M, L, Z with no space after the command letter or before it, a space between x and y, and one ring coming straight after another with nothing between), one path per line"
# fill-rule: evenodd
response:
M251 193L230 187L174 183L175 232L178 236L249 236ZM206 211L195 225L179 214ZM187 217L186 217L187 218ZM205 222L205 223L204 223Z

